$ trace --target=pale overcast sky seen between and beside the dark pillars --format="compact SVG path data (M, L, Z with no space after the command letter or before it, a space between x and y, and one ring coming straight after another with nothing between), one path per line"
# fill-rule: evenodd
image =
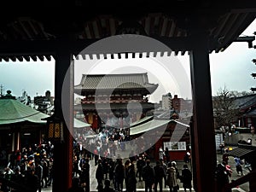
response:
M242 32L241 36L253 36L256 32L256 20ZM256 45L256 41L253 42ZM256 49L248 49L247 43L233 43L221 53L210 54L212 79L212 96L220 88L238 91L250 91L255 86L251 73L256 72L253 64ZM177 67L177 63L179 64ZM166 65L167 64L167 65ZM176 64L176 65L175 65ZM149 83L160 84L150 96L150 102L159 102L161 95L171 92L172 96L191 98L190 84L179 79L189 79L189 55L171 56L169 58L144 58L126 60L93 61L84 71L83 62L75 61L75 84L79 84L82 73L148 73ZM88 65L87 65L88 66ZM14 96L21 96L26 90L30 96L44 96L46 90L54 95L54 61L0 62L0 84L3 93L12 90ZM203 75L203 74L202 74ZM190 83L190 82L189 82ZM255 86L256 87L256 86Z

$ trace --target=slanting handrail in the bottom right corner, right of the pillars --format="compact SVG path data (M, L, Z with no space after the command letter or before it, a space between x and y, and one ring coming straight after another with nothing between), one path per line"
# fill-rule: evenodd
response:
M228 192L231 191L232 188L236 188L237 186L249 182L249 191L254 192L256 191L256 170L254 169L253 172L249 172L247 175L240 177L236 180L232 180L231 183L227 183L222 192Z

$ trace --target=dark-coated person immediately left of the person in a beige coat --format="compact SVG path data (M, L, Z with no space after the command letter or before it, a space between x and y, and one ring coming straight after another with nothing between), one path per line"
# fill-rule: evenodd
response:
M163 178L165 177L165 171L162 166L160 166L160 161L156 161L154 166L154 192L157 192L157 186L159 184L160 192L163 191Z

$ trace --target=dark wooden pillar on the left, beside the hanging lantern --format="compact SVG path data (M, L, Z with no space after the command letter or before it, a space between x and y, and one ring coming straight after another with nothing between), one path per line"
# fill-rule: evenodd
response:
M55 55L55 101L58 103L55 113L61 113L62 117L63 113L73 117L73 70L69 70L71 61L72 55L65 45L58 49ZM64 85L65 90L70 90L65 93L62 92L64 79L69 82ZM61 103L65 104L65 108L62 108ZM73 118L63 121L63 142L55 143L54 146L53 192L66 192L72 185L73 137L67 129L71 125Z

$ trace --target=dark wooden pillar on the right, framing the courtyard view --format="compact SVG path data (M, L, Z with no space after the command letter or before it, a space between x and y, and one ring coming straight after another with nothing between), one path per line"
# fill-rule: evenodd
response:
M198 30L192 33L192 50L189 52L194 103L191 154L195 166L194 185L198 192L215 191L214 172L217 160L207 43L206 32Z

